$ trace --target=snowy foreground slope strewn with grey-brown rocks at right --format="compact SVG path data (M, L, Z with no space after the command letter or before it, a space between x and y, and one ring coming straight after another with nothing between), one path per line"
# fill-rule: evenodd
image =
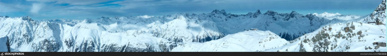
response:
M290 41L288 45L265 51L386 51L385 27L358 22L335 23Z

